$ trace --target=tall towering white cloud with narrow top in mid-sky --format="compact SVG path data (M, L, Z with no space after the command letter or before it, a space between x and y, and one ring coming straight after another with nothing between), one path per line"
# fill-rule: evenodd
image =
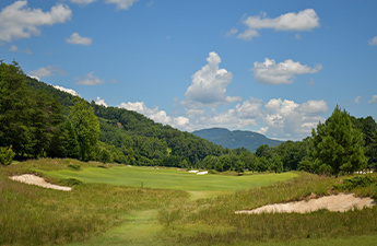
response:
M232 83L233 74L219 68L220 56L210 52L207 61L208 65L191 77L192 84L185 93L184 104L189 107L212 107L240 101L238 96L226 95L226 86Z

